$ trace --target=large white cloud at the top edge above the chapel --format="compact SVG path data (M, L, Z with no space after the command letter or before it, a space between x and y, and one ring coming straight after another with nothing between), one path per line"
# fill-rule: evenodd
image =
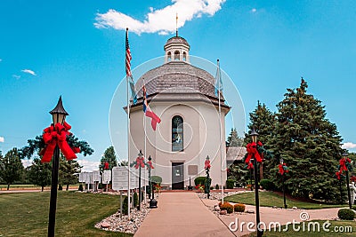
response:
M115 28L130 31L140 35L142 33L158 33L167 35L175 31L175 15L178 14L178 28L182 28L186 21L199 18L203 14L213 16L222 9L226 0L172 0L172 4L162 9L153 9L145 16L146 20L140 21L110 9L106 13L97 13L94 26L96 28Z

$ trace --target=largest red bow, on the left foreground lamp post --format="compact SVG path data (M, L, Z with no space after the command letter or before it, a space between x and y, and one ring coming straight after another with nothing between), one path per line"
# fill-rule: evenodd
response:
M68 131L71 126L64 122L63 125L58 122L55 126L50 126L44 129L44 150L40 155L43 155L41 162L51 162L55 146L59 146L61 153L67 158L67 160L73 160L77 158L76 153L80 152L79 147L71 148L67 142L67 135L71 133Z

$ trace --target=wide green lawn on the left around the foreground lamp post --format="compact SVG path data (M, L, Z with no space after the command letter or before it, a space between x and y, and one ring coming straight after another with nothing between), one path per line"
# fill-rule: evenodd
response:
M119 209L119 196L58 192L56 236L133 236L94 228ZM47 236L50 192L0 194L0 236Z

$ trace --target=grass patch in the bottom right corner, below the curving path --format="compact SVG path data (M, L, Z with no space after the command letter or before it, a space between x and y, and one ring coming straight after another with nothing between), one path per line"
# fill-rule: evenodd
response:
M314 221L312 221L314 223ZM283 225L281 227L281 232L277 231L274 232L273 230L267 231L265 233L263 233L263 237L320 237L320 236L328 236L328 237L339 237L339 236L355 236L356 233L356 222L355 221L329 221L330 225L325 225L327 227L326 230L323 230L323 224L325 223L325 221L323 220L319 220L317 221L319 223L319 230L318 231L318 225L310 225L309 230L308 231L308 223L310 222L305 222L304 223L304 229L303 229L303 224L301 225L295 225L295 230L293 229L293 225L288 225L286 228L286 225ZM315 226L315 227L313 227ZM299 231L298 227L300 227ZM286 230L287 231L283 231ZM250 233L248 234L248 236L255 236L255 233Z

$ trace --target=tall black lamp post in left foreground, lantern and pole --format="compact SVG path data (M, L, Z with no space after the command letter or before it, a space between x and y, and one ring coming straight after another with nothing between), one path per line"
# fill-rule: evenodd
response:
M50 112L53 116L53 126L60 122L63 122L66 119L66 116L69 115L64 109L61 102L61 97L58 100L57 106L53 108ZM50 201L50 213L48 215L48 236L54 236L54 227L55 227L55 214L57 209L57 186L58 186L58 168L60 165L60 147L55 146L53 152L53 162L52 162L52 184L51 184L51 201Z

